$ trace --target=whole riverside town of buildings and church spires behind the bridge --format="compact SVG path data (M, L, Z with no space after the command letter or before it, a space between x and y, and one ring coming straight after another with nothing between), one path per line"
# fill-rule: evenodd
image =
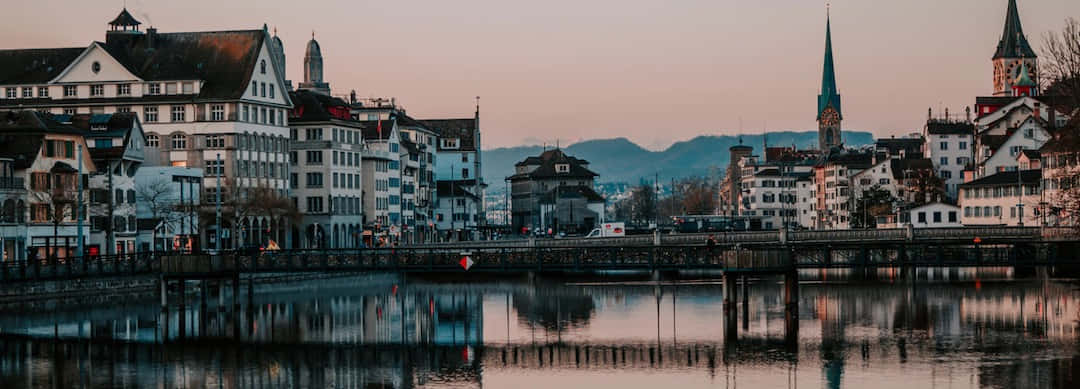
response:
M162 32L126 9L107 25L85 46L0 50L3 260L580 234L616 220L699 231L1062 226L1080 214L1080 80L1040 68L1015 0L990 95L928 111L909 136L853 147L866 142L841 131L826 16L815 148L768 134L760 147L649 158L617 145L634 152L603 166L558 147L485 166L480 97L472 112L419 118L394 97L339 93L314 33L294 86L266 25ZM702 155L712 167L692 166ZM639 180L599 184L600 167Z

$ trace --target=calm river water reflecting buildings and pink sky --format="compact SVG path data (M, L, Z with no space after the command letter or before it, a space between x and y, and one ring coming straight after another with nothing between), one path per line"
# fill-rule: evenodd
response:
M1080 283L921 271L802 273L797 317L780 278L726 310L718 281L685 274L365 276L244 287L239 310L192 293L183 314L153 295L10 306L0 387L1080 388Z

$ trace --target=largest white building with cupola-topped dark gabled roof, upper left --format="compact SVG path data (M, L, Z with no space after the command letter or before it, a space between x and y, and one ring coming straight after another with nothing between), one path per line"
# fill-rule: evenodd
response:
M219 170L227 193L242 198L260 186L287 192L285 112L292 102L284 64L275 61L283 57L281 46L266 27L143 32L126 10L109 25L104 42L85 48L0 51L6 83L0 110L134 112L143 118L148 164L205 167L210 192L217 190L212 176ZM242 223L260 219L266 217ZM275 226L270 233L284 231Z

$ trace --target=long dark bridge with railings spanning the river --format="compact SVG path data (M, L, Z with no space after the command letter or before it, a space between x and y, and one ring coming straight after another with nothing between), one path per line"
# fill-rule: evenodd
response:
M713 237L715 246L705 245ZM1072 229L980 227L838 231L754 231L610 239L483 241L393 249L289 250L211 254L135 253L9 261L0 282L124 276L239 279L296 272L590 272L712 270L784 273L797 269L1080 265ZM461 261L469 257L465 270Z

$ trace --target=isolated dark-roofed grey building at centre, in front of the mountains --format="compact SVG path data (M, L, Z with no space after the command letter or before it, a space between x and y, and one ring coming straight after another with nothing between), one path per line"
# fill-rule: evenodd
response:
M584 231L604 222L604 198L593 190L589 161L546 150L514 165L510 182L512 228Z

